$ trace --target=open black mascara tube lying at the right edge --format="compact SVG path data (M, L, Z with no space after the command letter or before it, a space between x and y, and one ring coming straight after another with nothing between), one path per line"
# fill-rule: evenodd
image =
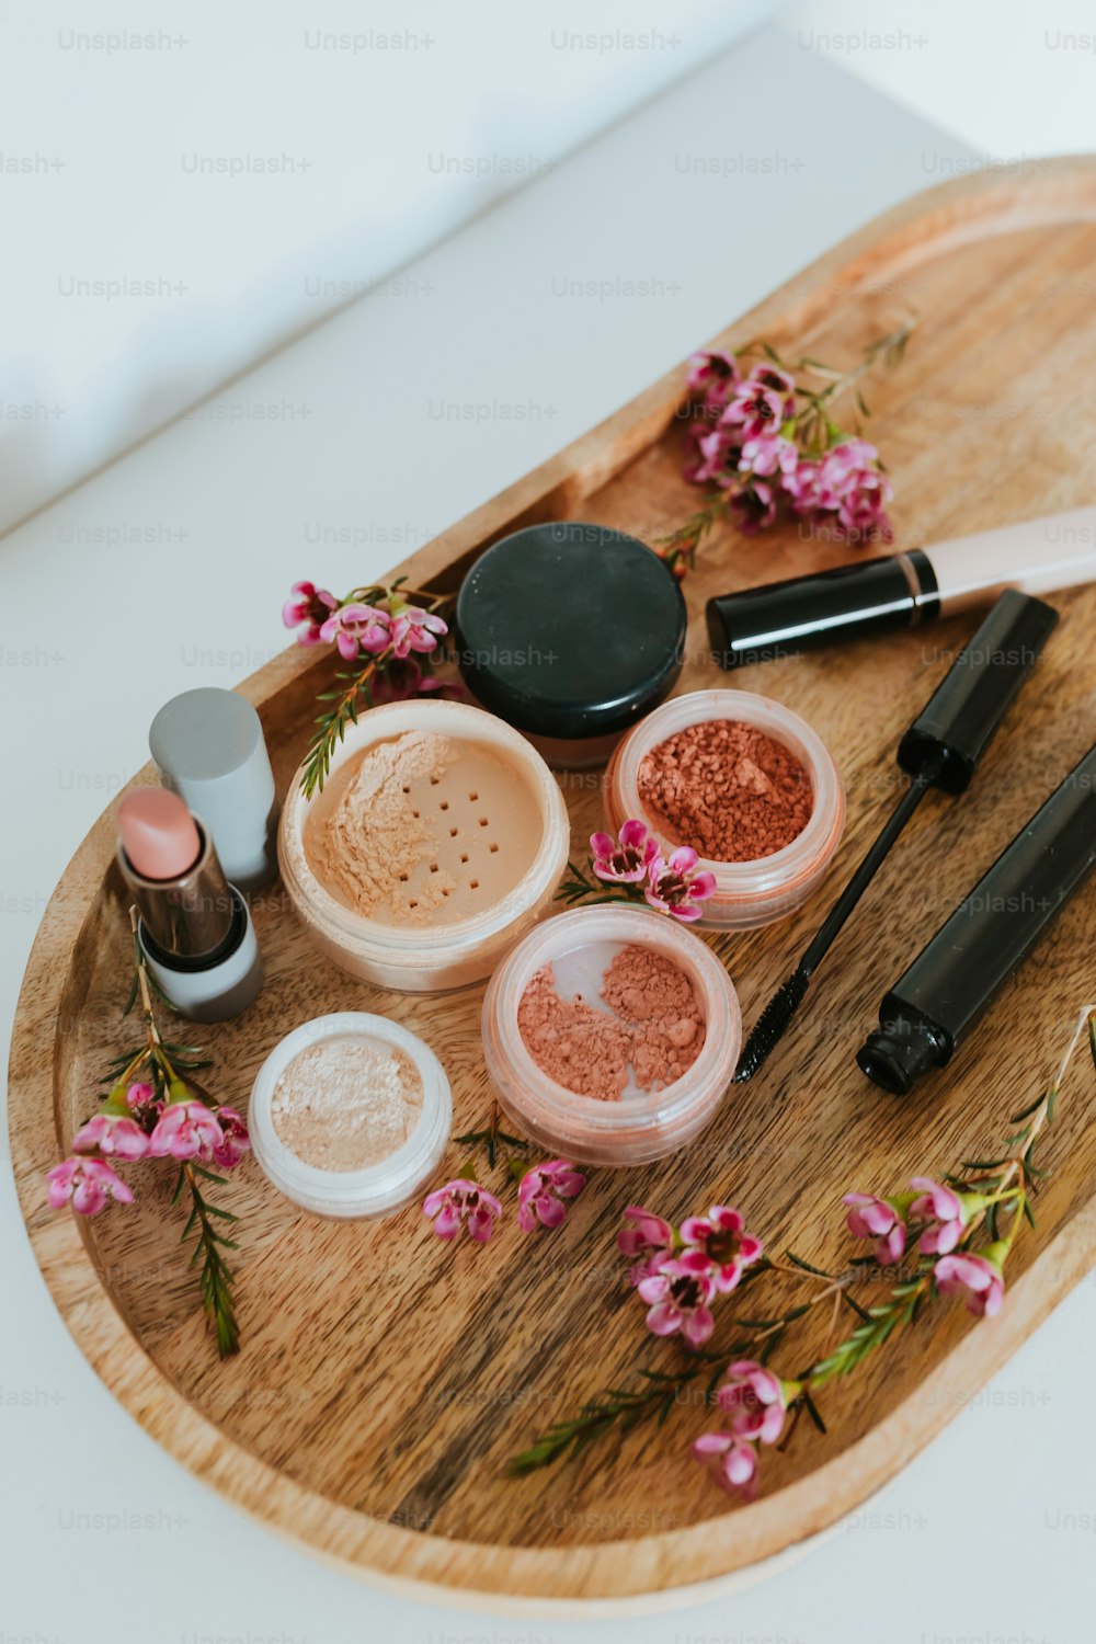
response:
M868 1078L907 1095L945 1067L1096 863L1096 746L1020 829L879 1006L858 1051Z

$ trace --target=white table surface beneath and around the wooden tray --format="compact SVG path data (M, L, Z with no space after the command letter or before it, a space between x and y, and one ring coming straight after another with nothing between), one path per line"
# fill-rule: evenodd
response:
M961 153L766 31L422 258L403 296L353 306L0 544L5 1031L49 893L145 761L153 712L278 651L289 582L383 570L922 187L927 155ZM578 279L613 294L557 294ZM0 1644L1091 1637L1091 1282L794 1567L680 1614L508 1621L332 1573L199 1485L71 1342L7 1171L0 1226Z

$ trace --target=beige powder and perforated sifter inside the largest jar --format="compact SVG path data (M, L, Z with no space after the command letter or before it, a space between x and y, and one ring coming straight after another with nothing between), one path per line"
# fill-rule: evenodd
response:
M541 812L511 760L409 730L348 760L312 802L319 881L381 924L449 926L508 896L532 866Z

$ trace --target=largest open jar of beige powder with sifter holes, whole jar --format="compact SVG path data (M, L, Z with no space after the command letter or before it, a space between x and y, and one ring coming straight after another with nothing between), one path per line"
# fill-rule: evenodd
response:
M440 993L488 977L547 911L569 835L524 737L419 699L363 713L311 801L294 781L278 853L320 952L378 986Z

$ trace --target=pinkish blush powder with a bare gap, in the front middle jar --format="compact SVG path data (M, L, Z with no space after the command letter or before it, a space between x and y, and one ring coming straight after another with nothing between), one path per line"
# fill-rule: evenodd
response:
M542 1074L578 1097L619 1101L629 1067L636 1088L675 1083L700 1055L705 1023L693 986L664 954L621 947L601 978L608 1011L582 995L560 998L552 965L542 965L518 1004L518 1028Z

